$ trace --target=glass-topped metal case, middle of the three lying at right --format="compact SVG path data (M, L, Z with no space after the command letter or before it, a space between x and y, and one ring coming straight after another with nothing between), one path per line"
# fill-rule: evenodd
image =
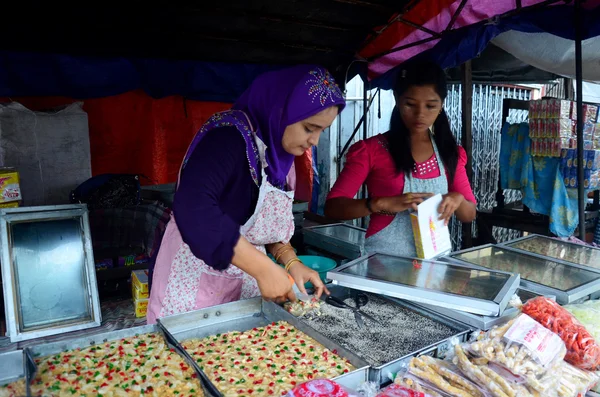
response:
M599 273L490 244L454 252L443 260L518 273L522 287L541 295L554 295L561 305L577 302L600 291Z

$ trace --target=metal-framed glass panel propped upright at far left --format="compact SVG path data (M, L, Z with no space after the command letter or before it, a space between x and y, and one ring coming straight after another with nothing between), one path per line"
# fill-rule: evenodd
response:
M0 233L11 342L100 325L85 205L5 208Z

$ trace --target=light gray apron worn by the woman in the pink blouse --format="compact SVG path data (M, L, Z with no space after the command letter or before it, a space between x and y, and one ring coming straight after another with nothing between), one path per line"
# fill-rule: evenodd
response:
M431 136L431 144L433 145L433 152L440 169L440 176L432 179L418 179L413 178L412 172L405 172L403 194L439 193L444 195L448 193L446 169L444 168L444 163L442 162L433 136ZM396 214L392 223L385 229L369 236L365 241L365 251L367 253L379 252L389 255L415 257L417 250L415 248L415 238L412 232L409 211Z

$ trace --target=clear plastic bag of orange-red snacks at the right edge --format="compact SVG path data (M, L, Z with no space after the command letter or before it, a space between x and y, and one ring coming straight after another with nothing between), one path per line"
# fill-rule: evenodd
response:
M600 345L575 317L551 299L539 296L520 307L521 311L564 342L565 361L586 371L600 369Z

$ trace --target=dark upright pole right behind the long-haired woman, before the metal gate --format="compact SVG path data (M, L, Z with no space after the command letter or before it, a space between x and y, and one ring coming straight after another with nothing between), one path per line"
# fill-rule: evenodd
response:
M461 65L462 89L462 146L467 153L467 177L473 186L473 75L471 61ZM462 248L473 246L473 232L470 223L462 225Z

